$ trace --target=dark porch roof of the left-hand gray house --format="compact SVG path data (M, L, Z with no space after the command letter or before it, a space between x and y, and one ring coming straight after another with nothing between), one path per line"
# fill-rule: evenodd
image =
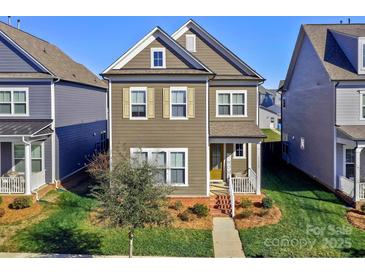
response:
M33 134L36 136L50 134L52 130L48 129L48 126L51 123L52 120L50 119L2 119L0 123L0 136L31 136Z

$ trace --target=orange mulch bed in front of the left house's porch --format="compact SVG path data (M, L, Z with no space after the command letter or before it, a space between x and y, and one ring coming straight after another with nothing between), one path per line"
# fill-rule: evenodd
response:
M24 209L10 209L9 204L14 200L14 197L2 197L3 202L0 208L5 210L5 215L0 217L0 224L11 224L18 221L27 220L39 215L42 212L42 205L33 203L32 206Z

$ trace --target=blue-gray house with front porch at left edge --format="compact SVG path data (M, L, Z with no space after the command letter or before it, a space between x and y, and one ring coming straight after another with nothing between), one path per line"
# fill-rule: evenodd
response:
M81 170L106 141L106 84L56 46L0 22L0 194Z

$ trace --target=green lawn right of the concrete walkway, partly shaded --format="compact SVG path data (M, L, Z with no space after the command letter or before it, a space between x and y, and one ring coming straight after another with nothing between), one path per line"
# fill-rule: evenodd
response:
M365 232L352 227L345 205L308 176L289 166L271 166L263 174L263 191L281 209L282 220L240 230L246 256L365 256Z

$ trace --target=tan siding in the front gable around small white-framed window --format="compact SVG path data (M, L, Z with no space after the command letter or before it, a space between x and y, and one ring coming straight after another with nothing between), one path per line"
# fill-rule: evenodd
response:
M132 60L130 60L123 69L149 69L151 68L151 48L166 48L166 68L168 69L187 69L190 65L184 63L171 48L162 44L159 40L154 40L140 53L138 53Z

